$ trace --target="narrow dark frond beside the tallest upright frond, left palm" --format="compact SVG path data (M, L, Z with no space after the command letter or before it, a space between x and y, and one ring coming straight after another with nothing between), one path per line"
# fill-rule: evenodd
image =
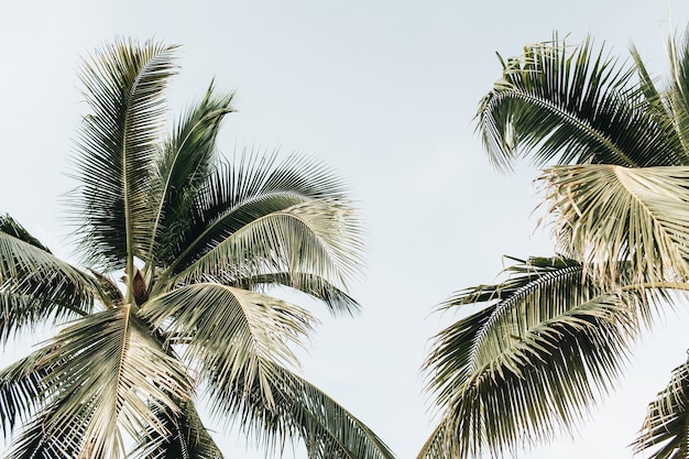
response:
M192 107L173 128L157 162L161 182L157 215L153 223L156 243L145 258L158 265L172 263L184 247L184 234L198 225L194 205L199 189L207 183L217 159L216 136L231 107L233 95L218 96L211 85L200 102ZM153 243L153 241L152 241Z

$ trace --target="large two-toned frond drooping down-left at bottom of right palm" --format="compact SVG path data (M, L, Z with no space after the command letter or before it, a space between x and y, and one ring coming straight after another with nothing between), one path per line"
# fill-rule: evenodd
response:
M619 376L647 314L646 298L601 291L572 260L510 271L445 305L485 303L435 338L425 371L442 438L419 458L514 452L572 429Z

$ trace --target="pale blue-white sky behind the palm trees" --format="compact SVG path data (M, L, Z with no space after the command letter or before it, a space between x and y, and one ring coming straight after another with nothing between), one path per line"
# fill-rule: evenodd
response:
M667 0L3 1L0 212L69 258L61 196L75 186L81 57L116 36L181 44L173 117L215 79L237 90L219 139L227 156L308 153L349 184L365 221L365 275L351 288L363 310L319 312L304 374L414 458L434 427L419 373L428 339L459 318L435 306L497 281L505 254L553 254L535 230L538 172L495 172L474 132L478 102L500 78L495 53L518 55L554 31L571 43L591 34L621 58L633 42L661 76L668 34L688 24L686 0L671 13ZM647 403L687 358L687 319L659 320L577 435L520 457L632 457ZM263 457L238 431L218 427L217 438L228 457Z

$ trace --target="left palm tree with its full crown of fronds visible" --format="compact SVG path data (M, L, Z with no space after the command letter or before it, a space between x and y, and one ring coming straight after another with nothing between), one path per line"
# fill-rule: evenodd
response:
M0 217L2 342L58 327L0 372L9 457L221 458L203 395L269 451L300 440L309 458L392 458L295 372L315 318L269 295L282 286L332 314L359 308L344 288L360 223L342 183L304 156L222 161L232 95L212 84L163 136L175 50L118 40L84 63L90 114L68 199L83 264Z

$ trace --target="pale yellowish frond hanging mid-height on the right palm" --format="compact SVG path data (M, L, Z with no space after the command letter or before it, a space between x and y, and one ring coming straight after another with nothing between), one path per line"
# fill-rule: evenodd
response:
M558 242L601 282L620 278L620 262L631 283L689 278L689 167L557 166L542 179Z

